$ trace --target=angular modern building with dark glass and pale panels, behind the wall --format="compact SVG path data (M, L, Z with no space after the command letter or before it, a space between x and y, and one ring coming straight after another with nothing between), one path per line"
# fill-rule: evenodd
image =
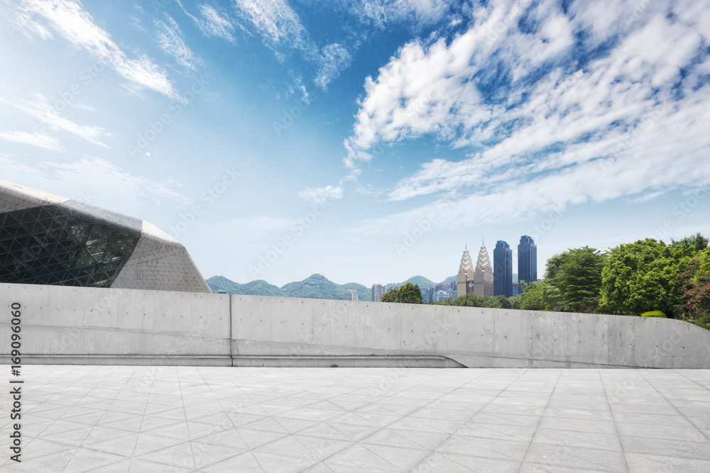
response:
M152 223L3 180L0 282L212 292Z

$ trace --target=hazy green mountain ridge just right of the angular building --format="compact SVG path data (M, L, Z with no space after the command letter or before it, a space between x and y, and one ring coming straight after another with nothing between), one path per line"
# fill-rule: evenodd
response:
M207 285L209 285L209 289L212 289L212 292L222 289L227 291L228 294L336 300L343 299L345 289L356 289L360 301L370 301L372 299L370 288L356 282L336 284L322 274L311 274L302 281L290 282L280 288L273 284L268 284L268 282L262 281L261 279L246 284L239 284L222 276L213 276L207 279Z

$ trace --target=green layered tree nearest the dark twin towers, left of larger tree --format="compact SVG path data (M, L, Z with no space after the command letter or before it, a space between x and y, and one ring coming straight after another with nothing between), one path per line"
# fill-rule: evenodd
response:
M563 311L593 311L599 306L601 272L606 256L584 246L547 260L547 302Z

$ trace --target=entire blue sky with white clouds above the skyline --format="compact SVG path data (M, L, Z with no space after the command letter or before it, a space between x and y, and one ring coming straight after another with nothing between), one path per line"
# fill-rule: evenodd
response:
M532 235L544 267L710 235L706 1L20 0L0 22L0 177L151 221L204 277L440 281L484 238Z

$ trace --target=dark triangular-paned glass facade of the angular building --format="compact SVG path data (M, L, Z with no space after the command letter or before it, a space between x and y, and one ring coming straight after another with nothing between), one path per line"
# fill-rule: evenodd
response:
M77 201L0 213L0 282L110 287L142 228Z

